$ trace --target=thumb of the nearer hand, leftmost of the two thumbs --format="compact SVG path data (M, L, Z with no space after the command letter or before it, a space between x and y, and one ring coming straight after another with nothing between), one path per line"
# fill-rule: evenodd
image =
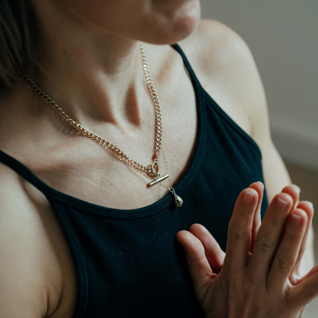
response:
M208 280L217 275L212 274L209 262L205 257L204 246L199 239L188 231L178 232L176 239L184 248L193 286L196 291L199 291L207 285Z

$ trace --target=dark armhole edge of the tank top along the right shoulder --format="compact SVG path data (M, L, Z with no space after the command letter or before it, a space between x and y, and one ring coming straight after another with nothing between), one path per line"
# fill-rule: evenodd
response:
M190 63L189 63L188 59L186 58L184 52L182 51L181 47L176 43L171 45L171 46L174 47L176 49L176 51L179 52L179 54L181 55L183 62L184 62L185 66L190 74L192 81L197 83L197 86L199 87L199 89L202 92L201 97L205 98L209 102L211 107L213 107L213 109L218 113L218 115L220 115L220 117L223 120L225 120L227 122L227 124L232 129L234 129L241 137L243 137L243 139L245 139L245 141L249 142L252 145L252 147L259 154L260 159L262 159L261 150L260 150L258 144L255 142L255 140L250 135L248 135L228 114L226 114L225 111L218 105L218 103L202 87L200 81L197 79L197 76L194 73L192 67L190 66Z

